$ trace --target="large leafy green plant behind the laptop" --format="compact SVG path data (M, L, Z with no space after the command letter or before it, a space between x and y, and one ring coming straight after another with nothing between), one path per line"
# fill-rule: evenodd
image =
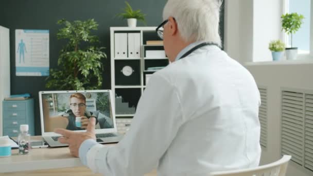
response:
M107 58L104 47L98 47L98 37L91 35L98 24L93 20L69 22L64 19L58 24L64 25L57 33L58 39L67 39L68 43L60 51L58 69L50 69L46 79L47 88L54 90L94 90L102 85L103 59Z

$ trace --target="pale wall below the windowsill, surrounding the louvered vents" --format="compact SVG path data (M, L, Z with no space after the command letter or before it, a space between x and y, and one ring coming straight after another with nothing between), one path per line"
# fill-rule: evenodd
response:
M288 89L284 91L291 92L298 92L298 90L313 90L313 62L276 62L273 64L245 66L254 77L257 85L263 85L267 88L267 148L264 149L262 147L262 156L260 160L260 164L263 165L277 161L282 157L282 87L288 87ZM311 94L310 92L307 93ZM306 121L309 121L308 118ZM306 152L308 153L309 150L310 149L306 149ZM306 161L308 161L308 159L306 159ZM294 175L312 176L313 171L290 161L286 176Z

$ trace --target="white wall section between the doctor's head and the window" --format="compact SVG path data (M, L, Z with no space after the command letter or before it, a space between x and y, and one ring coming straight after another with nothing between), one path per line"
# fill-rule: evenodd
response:
M281 0L225 0L225 51L240 63L272 60L268 44L283 39Z

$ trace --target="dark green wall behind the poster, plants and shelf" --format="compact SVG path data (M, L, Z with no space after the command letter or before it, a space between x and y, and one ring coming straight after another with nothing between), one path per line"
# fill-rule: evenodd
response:
M162 11L166 0L129 0L134 9L141 9L147 14L147 26L158 26L162 22ZM107 47L106 54L110 58L111 26L127 26L126 20L116 17L116 13L124 8L123 0L1 0L0 25L10 29L10 64L11 94L30 93L35 99L36 134L41 134L38 92L47 91L46 77L15 76L15 29L49 29L50 30L50 68L57 67L59 51L65 44L58 41L56 33L60 28L57 21L64 18L68 21L95 19L98 30L94 32L102 46ZM222 19L221 19L222 20ZM222 22L222 21L221 21ZM142 23L138 23L142 26ZM223 29L223 27L222 27ZM223 31L221 31L223 36ZM102 89L111 89L110 59L103 63Z

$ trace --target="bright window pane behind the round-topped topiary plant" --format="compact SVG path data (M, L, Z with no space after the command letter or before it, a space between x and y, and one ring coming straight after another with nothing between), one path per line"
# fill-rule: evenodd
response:
M311 0L285 0L285 13L297 12L304 16L301 28L292 34L292 46L298 47L298 58L313 57L313 3ZM291 35L285 34L287 47L291 47Z

